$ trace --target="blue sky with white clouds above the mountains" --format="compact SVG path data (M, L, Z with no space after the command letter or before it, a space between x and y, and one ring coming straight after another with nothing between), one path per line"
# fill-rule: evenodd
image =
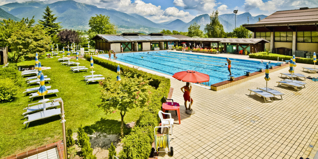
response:
M6 3L23 3L30 0L0 0ZM59 0L36 0L54 3ZM220 14L250 12L252 16L270 15L279 10L294 10L300 7L316 8L318 0L75 0L100 8L114 9L125 13L136 13L156 23L181 19L191 21L202 14L218 10Z

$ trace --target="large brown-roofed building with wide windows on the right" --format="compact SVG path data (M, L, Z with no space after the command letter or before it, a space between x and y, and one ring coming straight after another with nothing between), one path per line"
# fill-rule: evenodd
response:
M253 38L269 41L265 48L274 53L285 54L284 49L277 51L277 48L283 47L291 49L291 54L305 51L312 56L313 52L318 52L318 8L276 11L255 24L244 24L243 27L253 32Z

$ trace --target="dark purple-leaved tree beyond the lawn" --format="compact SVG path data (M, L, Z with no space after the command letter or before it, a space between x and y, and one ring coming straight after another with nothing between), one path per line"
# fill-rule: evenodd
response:
M64 29L58 34L59 41L63 45L78 44L80 42L79 34L76 31ZM86 44L87 45L87 44Z

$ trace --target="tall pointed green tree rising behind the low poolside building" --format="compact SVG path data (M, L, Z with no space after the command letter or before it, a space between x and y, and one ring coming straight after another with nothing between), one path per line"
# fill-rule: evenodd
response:
M225 36L223 25L218 20L218 10L213 11L210 15L210 24L205 25L204 32L208 38L223 38Z

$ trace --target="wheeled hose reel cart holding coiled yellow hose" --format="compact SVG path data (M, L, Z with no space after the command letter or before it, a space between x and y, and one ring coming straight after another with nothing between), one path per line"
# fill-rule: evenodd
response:
M156 135L156 128L168 128L167 132L168 134L164 134L162 136L157 136ZM170 147L170 139L169 139L169 127L164 126L164 127L155 127L154 128L154 134L155 134L155 148L151 149L151 155L154 156L155 152L170 152L170 155L173 156L173 148ZM173 138L172 138L173 139ZM166 147L168 147L168 150L166 151ZM164 151L158 151L160 148L163 148Z

